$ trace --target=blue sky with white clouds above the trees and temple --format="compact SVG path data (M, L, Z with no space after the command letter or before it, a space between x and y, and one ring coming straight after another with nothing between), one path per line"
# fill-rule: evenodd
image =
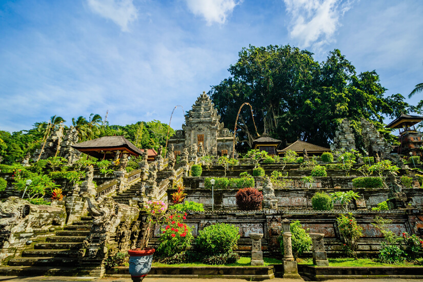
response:
M110 124L169 123L250 44L319 62L339 49L407 96L423 82L422 14L421 0L0 0L0 130L106 111ZM171 127L184 122L179 107Z

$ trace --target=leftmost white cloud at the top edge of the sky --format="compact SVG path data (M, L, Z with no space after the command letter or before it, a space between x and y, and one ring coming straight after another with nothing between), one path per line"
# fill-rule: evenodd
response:
M122 31L129 31L128 24L137 18L133 0L87 0L91 10L111 19Z

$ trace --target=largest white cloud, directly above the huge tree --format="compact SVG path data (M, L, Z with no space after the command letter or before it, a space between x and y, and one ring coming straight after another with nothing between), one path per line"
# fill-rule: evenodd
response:
M339 17L351 8L352 1L342 0L284 0L291 16L289 33L301 48L334 42Z

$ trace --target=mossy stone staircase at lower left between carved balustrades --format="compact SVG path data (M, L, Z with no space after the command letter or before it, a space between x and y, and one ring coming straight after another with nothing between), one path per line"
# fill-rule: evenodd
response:
M84 216L47 237L44 243L34 244L34 249L25 250L22 257L12 258L8 266L0 267L0 275L60 275L77 273L78 250L90 233L92 219Z

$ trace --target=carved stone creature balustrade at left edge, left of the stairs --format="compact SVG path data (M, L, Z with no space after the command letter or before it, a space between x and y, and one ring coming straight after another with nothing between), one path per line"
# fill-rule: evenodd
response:
M18 197L0 203L0 231L45 232L52 226L63 227L65 222L65 206L33 205Z

